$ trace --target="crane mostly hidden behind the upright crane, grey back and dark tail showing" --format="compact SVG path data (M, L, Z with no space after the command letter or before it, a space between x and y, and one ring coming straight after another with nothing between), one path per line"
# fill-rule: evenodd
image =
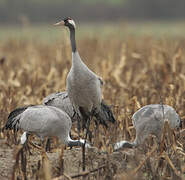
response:
M78 120L78 115L77 113L75 113L73 109L73 106L70 102L67 91L50 94L43 99L42 103L43 105L55 106L63 110L69 115L72 122L75 122ZM105 127L108 127L107 125L108 121L111 123L115 122L115 118L110 107L106 105L105 102L103 101L101 102L100 111L97 114L95 114L95 118L97 123L100 123Z

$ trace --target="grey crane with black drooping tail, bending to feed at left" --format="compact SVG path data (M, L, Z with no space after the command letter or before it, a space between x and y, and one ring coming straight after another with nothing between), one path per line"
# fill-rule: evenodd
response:
M28 134L44 137L58 137L62 144L82 146L84 140L70 138L71 119L64 111L53 106L30 105L12 111L5 125L6 129L22 129ZM25 133L21 139L24 139ZM24 143L24 142L23 142Z

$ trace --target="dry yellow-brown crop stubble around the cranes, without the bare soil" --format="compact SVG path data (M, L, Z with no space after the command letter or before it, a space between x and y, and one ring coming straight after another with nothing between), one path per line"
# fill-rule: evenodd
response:
M181 131L184 132L184 47L185 39L172 38L120 39L113 35L103 39L86 37L78 40L81 58L105 82L103 97L112 105L117 120L117 124L111 125L108 130L99 128L98 133L93 131L96 134L96 147L111 154L112 143L122 139L133 140L135 131L132 128L132 114L146 104L159 104L160 96L164 104L171 105L179 113L183 120ZM4 126L8 114L14 108L41 104L42 99L50 93L65 90L70 66L71 47L68 39L52 44L37 40L11 39L0 44L0 128ZM91 129L94 129L93 124ZM73 134L75 132L77 131L73 127ZM13 132L1 132L0 138L5 139L11 148L14 147ZM173 148L174 141L181 151ZM165 150L160 155L154 149L155 138L150 138L135 153L137 158L126 160L130 167L124 172L115 170L110 178L133 179L134 177L129 178L133 173L131 170L135 170L138 179L185 177L184 135L182 137L180 134L174 141L172 143L166 139ZM125 157L128 158L128 154ZM107 168L112 168L108 163L109 161ZM48 166L47 163L43 164L43 167ZM109 177L108 173L105 169L104 174L99 174L99 179L106 179ZM21 173L18 174L22 177ZM49 179L50 175L45 173L43 176ZM64 177L69 178L71 177L67 175ZM91 179L93 178L96 179L97 176L92 176Z

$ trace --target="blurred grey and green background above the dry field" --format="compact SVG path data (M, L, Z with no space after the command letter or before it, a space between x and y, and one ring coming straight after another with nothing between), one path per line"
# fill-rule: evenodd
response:
M51 24L66 16L84 25L83 32L89 34L94 32L93 28L100 34L102 28L104 34L114 30L116 33L118 29L117 33L123 31L121 34L126 35L185 34L184 0L1 0L1 39L12 36L12 31L15 36L42 38L51 32ZM25 32L20 27L31 30Z

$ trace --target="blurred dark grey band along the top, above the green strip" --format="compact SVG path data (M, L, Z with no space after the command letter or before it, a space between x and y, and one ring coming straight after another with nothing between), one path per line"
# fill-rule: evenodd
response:
M184 20L184 0L1 0L0 22L47 22L72 16L79 21Z

